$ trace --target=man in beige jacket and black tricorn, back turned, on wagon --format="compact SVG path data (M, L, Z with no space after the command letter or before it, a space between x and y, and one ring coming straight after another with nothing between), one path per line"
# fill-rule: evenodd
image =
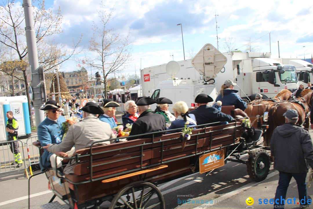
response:
M73 146L75 150L90 147L95 141L105 140L112 138L112 129L108 123L103 123L99 120L98 115L103 114L102 109L94 102L87 102L82 108L83 120L79 123L72 125L64 140L60 144L48 144L43 147L48 149L51 153L67 152ZM101 144L110 144L112 141L105 141ZM72 159L64 168L64 174L74 173L73 168L75 165Z

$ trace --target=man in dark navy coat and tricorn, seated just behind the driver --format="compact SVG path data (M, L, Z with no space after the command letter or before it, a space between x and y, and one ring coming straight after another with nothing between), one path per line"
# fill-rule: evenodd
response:
M190 114L196 116L197 125L203 125L207 123L215 122L232 122L233 117L227 115L215 107L208 107L208 102L213 102L213 99L206 94L199 94L195 102L198 105L198 108L192 110ZM212 126L220 125L220 123L212 124Z

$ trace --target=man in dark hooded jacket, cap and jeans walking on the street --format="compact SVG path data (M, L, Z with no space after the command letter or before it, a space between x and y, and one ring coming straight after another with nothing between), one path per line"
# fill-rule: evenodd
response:
M297 182L300 204L305 207L311 203L310 196L306 195L305 178L308 165L313 168L313 145L308 131L295 124L299 119L296 110L289 109L283 116L285 124L274 130L270 141L274 169L279 171L274 208L284 206L285 201L281 199L286 198L291 177Z

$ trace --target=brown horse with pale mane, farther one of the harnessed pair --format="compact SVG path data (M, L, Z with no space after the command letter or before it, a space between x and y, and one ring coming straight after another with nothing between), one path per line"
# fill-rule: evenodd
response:
M292 93L288 89L283 89L273 98L253 100L249 103L244 112L250 117L252 126L256 128L259 122L258 116L262 117L264 112L269 112L269 108L273 106L275 102L289 100L291 95Z

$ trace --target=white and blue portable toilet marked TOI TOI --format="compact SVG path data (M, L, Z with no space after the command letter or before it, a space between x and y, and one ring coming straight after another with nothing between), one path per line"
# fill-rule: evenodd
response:
M1 97L0 97L1 98ZM7 124L6 113L13 112L13 117L18 120L18 138L28 138L31 136L28 101L26 96L6 97L7 105L3 105L5 124ZM6 135L5 135L6 137Z

